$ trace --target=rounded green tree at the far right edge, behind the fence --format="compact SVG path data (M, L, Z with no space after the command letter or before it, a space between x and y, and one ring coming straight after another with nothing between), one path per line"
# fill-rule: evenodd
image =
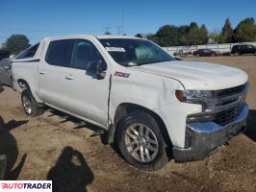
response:
M256 25L253 17L245 18L234 30L235 42L249 42L256 40Z

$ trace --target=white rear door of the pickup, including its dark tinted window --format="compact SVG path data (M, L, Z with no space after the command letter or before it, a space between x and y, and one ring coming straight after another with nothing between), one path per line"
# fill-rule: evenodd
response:
M45 57L38 66L38 87L42 100L57 108L68 109L64 95L64 74L71 61L73 39L58 39L49 43Z

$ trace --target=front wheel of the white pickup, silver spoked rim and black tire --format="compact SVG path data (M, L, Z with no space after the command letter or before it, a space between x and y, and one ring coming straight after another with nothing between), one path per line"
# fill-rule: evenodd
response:
M155 171L168 162L163 134L156 120L146 112L136 110L123 117L116 130L116 142L124 159L138 169Z

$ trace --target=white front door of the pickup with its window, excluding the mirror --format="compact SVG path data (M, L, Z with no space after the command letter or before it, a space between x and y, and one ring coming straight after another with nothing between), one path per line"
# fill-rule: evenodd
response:
M106 76L103 79L97 79L87 71L88 64L96 64L98 60L106 66ZM70 68L64 70L64 95L68 98L68 109L72 113L107 126L110 71L90 40L76 39Z

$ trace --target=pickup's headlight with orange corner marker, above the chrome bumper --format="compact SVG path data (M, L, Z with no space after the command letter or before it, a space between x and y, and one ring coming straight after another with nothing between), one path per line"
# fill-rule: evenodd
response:
M176 98L180 102L203 102L204 99L210 99L214 97L214 91L212 90L176 90Z

